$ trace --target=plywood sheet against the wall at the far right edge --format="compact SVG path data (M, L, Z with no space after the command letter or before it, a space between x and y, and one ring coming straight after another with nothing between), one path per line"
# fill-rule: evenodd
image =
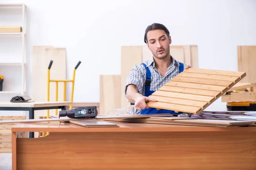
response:
M241 82L256 82L256 46L238 46L238 71L246 72Z

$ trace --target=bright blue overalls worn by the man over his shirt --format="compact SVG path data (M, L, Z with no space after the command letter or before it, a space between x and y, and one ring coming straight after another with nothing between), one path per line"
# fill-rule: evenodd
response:
M146 82L145 82L145 96L148 97L155 91L150 91L151 72L149 68L145 65L145 63L142 63L142 65L146 68L146 72L147 72ZM179 72L181 73L183 70L184 70L184 64L180 62ZM143 109L141 111L141 114L157 114L157 113L181 114L182 112L175 113L175 111L165 110L165 109L157 110L156 108L148 108L148 109Z

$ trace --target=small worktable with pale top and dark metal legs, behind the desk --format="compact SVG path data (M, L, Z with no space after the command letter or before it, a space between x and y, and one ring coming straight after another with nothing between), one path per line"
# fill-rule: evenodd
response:
M47 109L66 110L66 106L71 102L0 102L0 111L29 111L29 119L34 119L35 111ZM29 133L29 137L33 138L34 133Z

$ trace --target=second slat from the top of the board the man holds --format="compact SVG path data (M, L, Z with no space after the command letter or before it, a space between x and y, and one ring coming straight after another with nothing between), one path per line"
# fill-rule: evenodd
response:
M186 72L182 72L178 76L179 77L192 77L192 78L198 78L198 79L224 80L224 81L231 81L231 82L237 82L239 79L239 77L237 77L237 76L222 76L222 75L186 73Z

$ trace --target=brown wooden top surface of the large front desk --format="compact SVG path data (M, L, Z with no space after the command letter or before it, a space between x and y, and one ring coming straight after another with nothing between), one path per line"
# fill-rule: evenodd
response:
M63 122L37 122L14 125L12 132L256 132L256 127L202 127L116 121L107 122L116 123L119 127L82 127Z

